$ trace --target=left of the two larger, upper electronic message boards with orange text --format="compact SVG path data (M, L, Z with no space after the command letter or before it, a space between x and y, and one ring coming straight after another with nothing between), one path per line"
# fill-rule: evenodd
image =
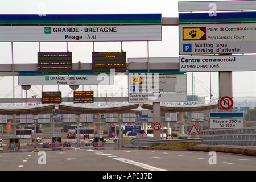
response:
M72 52L38 52L38 73L60 72L72 72Z

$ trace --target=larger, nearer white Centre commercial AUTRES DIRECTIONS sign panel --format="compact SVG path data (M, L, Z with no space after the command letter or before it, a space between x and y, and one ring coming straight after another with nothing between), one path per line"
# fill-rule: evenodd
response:
M180 72L256 71L256 55L179 56Z

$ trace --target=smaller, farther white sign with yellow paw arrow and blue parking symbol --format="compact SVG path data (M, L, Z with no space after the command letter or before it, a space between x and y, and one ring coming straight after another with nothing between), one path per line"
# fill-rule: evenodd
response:
M187 92L185 74L129 74L129 92Z

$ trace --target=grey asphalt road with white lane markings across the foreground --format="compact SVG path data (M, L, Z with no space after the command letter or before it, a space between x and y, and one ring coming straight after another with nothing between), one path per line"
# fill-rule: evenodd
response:
M255 171L255 156L199 151L73 148L39 152L0 153L1 171ZM41 163L41 164L39 164Z

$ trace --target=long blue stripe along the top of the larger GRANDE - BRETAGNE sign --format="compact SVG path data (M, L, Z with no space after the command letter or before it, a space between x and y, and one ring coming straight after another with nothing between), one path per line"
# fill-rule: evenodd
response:
M32 20L161 20L162 14L2 14L0 20L32 21Z

